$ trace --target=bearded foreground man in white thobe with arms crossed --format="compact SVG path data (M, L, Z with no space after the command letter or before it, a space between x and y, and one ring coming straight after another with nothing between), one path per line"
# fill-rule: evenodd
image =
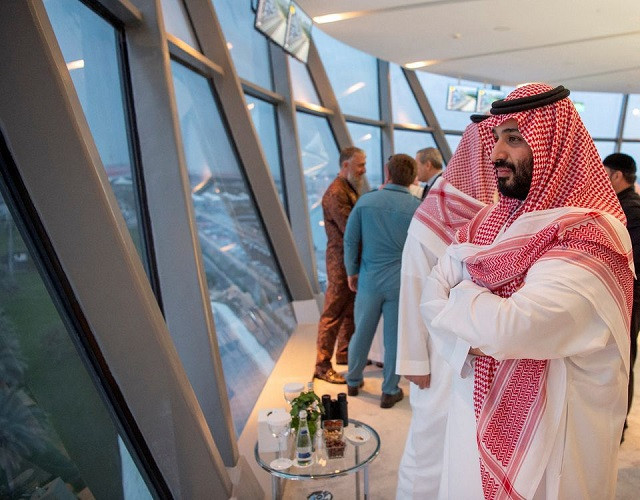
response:
M563 87L479 124L500 197L456 233L421 310L453 370L440 498L614 498L631 245Z

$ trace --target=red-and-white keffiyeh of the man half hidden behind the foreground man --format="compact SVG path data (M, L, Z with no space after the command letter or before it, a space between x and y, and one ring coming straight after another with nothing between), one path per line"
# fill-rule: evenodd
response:
M444 174L429 190L414 219L449 245L455 232L493 201L496 174L480 140L478 124L470 123Z

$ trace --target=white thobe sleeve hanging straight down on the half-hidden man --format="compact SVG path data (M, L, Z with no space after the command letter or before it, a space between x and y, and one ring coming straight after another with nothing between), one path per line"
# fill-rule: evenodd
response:
M420 314L424 282L437 262L435 253L410 231L402 252L400 301L398 304L398 375L428 375L429 332Z

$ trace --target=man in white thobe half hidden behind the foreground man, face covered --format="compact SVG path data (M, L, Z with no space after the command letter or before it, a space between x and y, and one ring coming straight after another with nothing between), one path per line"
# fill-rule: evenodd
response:
M474 115L443 176L416 211L402 256L396 372L411 383L411 424L398 470L398 500L436 498L451 369L434 351L420 315L424 281L466 224L493 200L496 178L480 142Z

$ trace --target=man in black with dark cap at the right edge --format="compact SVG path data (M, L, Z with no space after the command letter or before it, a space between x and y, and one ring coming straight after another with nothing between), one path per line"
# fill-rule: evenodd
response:
M627 154L614 153L607 156L602 163L604 163L611 185L618 195L624 215L627 217L627 230L631 236L631 246L633 248L633 262L636 275L638 275L640 273L640 195L635 191L636 162ZM640 282L638 279L634 279L630 329L629 406L627 408L631 408L631 400L633 398L633 364L638 352L638 329L640 329ZM628 413L629 410L627 409ZM626 421L624 427L625 429L627 427Z

